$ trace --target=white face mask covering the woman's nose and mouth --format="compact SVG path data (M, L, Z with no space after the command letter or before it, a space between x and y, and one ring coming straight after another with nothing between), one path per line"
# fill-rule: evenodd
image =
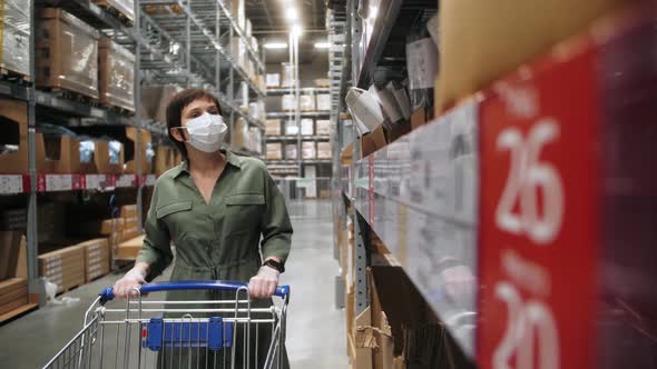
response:
M203 116L194 118L185 124L189 133L189 144L193 148L204 152L216 152L222 147L222 141L228 126L224 123L224 118L219 114L209 114L204 112Z

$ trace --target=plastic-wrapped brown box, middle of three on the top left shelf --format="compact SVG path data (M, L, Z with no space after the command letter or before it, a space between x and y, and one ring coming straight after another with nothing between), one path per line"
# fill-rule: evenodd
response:
M98 31L61 9L38 17L37 86L98 99Z

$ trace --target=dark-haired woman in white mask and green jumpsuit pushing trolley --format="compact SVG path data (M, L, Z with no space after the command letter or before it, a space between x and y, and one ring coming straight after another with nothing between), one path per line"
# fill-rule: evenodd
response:
M159 276L174 260L173 242L171 280L248 280L251 297L261 299L252 307L271 306L292 238L283 195L262 161L219 150L227 127L214 96L184 90L168 104L166 116L169 139L185 161L158 178L144 246L135 267L114 286L115 295L125 298ZM226 300L235 299L235 293L169 291L167 299ZM269 335L259 332L261 363ZM241 355L237 360L242 361ZM255 362L255 357L249 361ZM284 356L283 367L286 361Z

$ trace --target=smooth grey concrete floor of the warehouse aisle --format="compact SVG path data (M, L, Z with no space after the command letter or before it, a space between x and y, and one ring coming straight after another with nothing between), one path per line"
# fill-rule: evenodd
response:
M282 283L292 288L286 341L292 368L346 368L344 311L334 303L331 207L306 200L291 203L290 212L294 237ZM0 327L0 367L45 365L80 330L97 293L119 277L109 275L65 295L80 298L78 303L48 306Z

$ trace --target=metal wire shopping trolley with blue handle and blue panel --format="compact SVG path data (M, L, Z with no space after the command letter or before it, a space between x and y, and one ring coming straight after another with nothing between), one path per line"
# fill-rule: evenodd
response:
M235 292L235 299L143 299L173 290ZM82 329L43 368L283 367L288 286L274 293L283 303L266 308L252 308L243 282L157 282L136 288L134 295L120 308L122 301L108 303L114 299L111 288L100 292L85 315ZM271 336L264 339L267 347L258 347L259 335Z

